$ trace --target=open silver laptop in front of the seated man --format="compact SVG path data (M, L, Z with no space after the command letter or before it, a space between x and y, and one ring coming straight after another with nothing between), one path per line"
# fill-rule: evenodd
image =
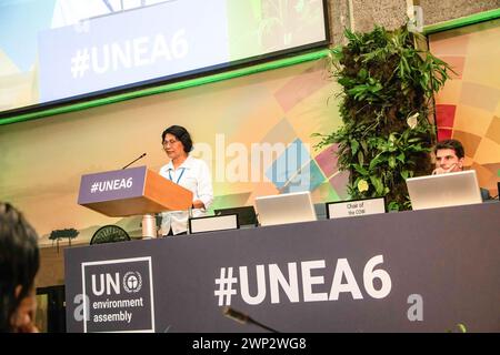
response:
M481 203L476 170L407 179L413 210Z

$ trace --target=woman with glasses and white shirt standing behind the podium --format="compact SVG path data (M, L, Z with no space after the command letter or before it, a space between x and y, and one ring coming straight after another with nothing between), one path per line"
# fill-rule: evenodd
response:
M192 216L203 215L213 202L212 179L207 163L189 155L191 135L183 126L171 125L161 134L161 142L170 162L160 169L160 175L190 190ZM187 234L188 217L188 211L162 212L161 235Z

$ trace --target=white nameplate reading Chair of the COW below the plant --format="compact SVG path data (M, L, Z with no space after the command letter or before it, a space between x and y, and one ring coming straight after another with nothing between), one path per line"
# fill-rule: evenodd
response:
M327 216L331 219L386 213L383 197L327 203Z

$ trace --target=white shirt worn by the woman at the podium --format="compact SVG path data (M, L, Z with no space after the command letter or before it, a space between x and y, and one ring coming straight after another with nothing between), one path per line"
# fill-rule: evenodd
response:
M204 215L213 202L212 178L204 161L188 155L177 170L170 161L160 169L160 175L191 191L192 201L200 200L204 204L204 209L192 210L192 216ZM188 211L162 212L161 235L167 235L170 227L173 234L188 231Z

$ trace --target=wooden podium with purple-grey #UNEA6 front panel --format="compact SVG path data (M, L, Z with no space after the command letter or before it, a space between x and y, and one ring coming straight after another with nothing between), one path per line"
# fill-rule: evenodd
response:
M192 192L139 166L82 175L78 204L110 217L144 215L154 223L153 213L190 209Z

